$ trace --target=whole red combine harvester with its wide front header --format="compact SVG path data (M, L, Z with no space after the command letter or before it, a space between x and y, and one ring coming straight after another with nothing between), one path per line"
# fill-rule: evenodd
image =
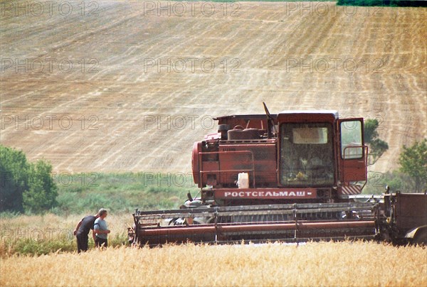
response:
M130 242L427 242L427 195L360 195L367 183L363 119L334 111L218 117L194 144L201 197L179 210L136 210Z

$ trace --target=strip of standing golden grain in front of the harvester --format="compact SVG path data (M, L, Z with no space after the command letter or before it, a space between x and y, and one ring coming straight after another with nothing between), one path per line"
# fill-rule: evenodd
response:
M0 259L1 286L426 286L426 249L363 242L135 249Z

